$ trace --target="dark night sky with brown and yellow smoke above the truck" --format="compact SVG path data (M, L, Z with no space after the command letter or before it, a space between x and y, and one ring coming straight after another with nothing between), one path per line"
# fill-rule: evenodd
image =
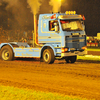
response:
M34 7L37 7L36 10ZM61 5L57 0L0 0L0 28L33 30L34 13L50 13L57 11L56 8L63 13L76 11L77 14L84 15L87 35L96 36L100 33L99 0L62 0Z

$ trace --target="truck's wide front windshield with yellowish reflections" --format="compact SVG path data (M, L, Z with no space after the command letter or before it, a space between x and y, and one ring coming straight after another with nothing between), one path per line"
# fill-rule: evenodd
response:
M81 20L60 20L63 31L82 31L84 27Z

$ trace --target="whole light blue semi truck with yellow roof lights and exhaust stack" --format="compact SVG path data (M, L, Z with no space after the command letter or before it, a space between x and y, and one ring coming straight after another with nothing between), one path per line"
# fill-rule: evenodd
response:
M34 35L32 46L23 42L0 44L0 58L5 61L16 57L39 58L51 64L56 59L74 63L77 55L85 55L85 17L76 11L34 15Z

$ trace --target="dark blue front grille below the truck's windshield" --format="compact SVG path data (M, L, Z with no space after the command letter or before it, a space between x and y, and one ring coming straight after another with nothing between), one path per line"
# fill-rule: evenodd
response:
M86 46L85 35L71 35L65 37L65 47L80 49L83 46Z

